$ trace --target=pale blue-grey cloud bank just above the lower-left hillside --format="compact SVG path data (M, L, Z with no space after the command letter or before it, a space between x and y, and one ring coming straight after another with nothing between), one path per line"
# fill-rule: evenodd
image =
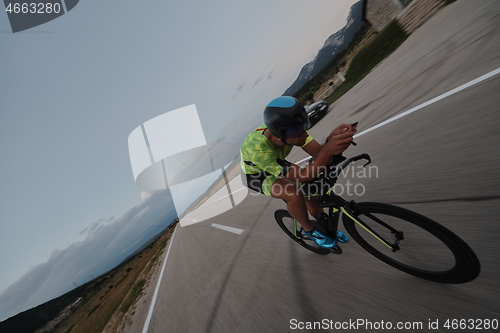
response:
M147 191L143 191L147 192ZM58 297L118 265L177 216L167 191L142 193L121 217L99 219L83 241L55 250L0 294L0 321Z

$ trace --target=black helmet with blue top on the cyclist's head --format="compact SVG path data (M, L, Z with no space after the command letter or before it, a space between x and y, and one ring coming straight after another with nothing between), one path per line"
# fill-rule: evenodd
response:
M309 118L299 100L281 96L267 104L264 124L275 137L286 139L302 134L309 127Z

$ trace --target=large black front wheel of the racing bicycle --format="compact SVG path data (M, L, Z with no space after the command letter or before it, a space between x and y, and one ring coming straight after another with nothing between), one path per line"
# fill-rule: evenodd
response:
M481 266L474 251L460 237L428 217L401 207L375 203L353 203L348 214L369 225L392 243L394 232L383 221L403 232L399 250L393 251L345 213L342 220L352 238L370 254L390 266L422 279L442 283L474 280ZM374 220L373 218L379 221ZM401 229L401 230L399 230ZM422 244L418 245L419 238ZM396 242L392 243L394 246ZM413 252L412 252L413 251Z

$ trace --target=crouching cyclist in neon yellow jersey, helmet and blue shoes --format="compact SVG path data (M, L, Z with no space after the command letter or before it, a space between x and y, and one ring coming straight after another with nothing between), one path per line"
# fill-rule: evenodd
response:
M241 168L246 174L247 187L283 199L288 212L309 238L321 247L335 247L335 240L311 223L308 211L316 219L324 211L317 205L314 187L302 184L317 178L321 168L332 161L332 156L342 160L342 152L352 142L356 126L338 126L321 145L306 130L309 120L304 106L289 96L278 97L266 106L264 123L246 137L241 147ZM285 160L293 146L313 156L305 168ZM341 231L337 232L337 239L343 243L349 241Z

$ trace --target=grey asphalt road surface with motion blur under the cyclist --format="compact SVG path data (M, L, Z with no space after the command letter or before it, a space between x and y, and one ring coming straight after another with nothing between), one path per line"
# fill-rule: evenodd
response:
M332 105L312 135L324 139L355 121L362 132L500 68L499 32L496 0L446 7ZM347 180L361 184L358 194L364 189L353 199L398 204L453 230L481 261L476 280L421 280L354 242L342 255L315 255L280 231L273 213L284 208L281 201L249 194L222 215L177 227L147 332L304 331L293 330L295 323L323 319L350 324L324 331L375 332L402 322L413 332L445 332L447 319L500 320L499 129L500 74L359 136L345 154L369 153L378 171L344 180L346 191ZM293 152L290 160L303 157ZM152 281L128 331L143 331L156 286ZM372 329L354 329L356 320ZM476 331L500 330L482 328Z

